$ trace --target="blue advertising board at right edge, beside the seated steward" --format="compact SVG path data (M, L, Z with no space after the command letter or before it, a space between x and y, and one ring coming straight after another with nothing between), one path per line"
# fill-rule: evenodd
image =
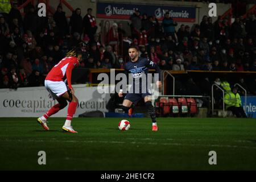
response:
M241 97L242 107L245 110L245 97ZM246 115L249 118L256 118L256 97L247 97L246 98Z

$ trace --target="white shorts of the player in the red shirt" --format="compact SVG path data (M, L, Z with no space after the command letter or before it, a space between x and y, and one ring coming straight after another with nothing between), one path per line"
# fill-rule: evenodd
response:
M44 80L44 86L46 86L48 92L51 93L53 100L68 91L67 85L64 81Z

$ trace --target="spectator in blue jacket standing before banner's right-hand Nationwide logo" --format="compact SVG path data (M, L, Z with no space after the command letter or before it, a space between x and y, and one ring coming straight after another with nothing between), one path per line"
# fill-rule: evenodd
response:
M166 36L172 35L173 38L175 37L175 27L177 23L171 18L169 11L166 11L166 14L164 14L162 26Z

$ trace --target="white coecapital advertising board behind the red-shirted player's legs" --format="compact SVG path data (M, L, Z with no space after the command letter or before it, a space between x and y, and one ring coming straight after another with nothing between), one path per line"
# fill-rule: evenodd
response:
M110 99L109 93L99 93L97 86L73 85L75 95L79 100L76 114L88 111L108 112L106 105ZM0 117L40 117L57 101L53 101L44 86L18 88L18 90L0 89ZM66 106L52 117L66 117Z

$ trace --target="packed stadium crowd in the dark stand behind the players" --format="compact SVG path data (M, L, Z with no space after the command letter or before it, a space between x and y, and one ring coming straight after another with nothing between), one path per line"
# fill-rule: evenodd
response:
M0 88L43 86L47 73L74 47L83 52L82 68L123 68L135 44L141 57L162 70L256 71L255 14L232 24L205 15L200 24L177 27L168 13L160 23L135 10L128 35L122 23L109 20L100 30L92 9L82 17L77 8L69 21L61 5L52 17L37 11L30 5L22 17L14 3L9 14L0 14Z

